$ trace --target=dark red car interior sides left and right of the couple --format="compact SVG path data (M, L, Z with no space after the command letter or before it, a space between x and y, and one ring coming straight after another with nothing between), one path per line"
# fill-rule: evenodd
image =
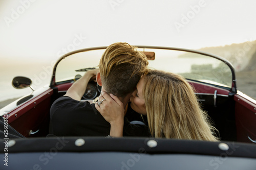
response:
M229 94L227 89L194 81L188 82L194 86L198 99L218 129L221 140L251 142L248 137L256 139L256 106L253 103L238 94ZM71 85L72 83L56 85L55 88L11 111L9 124L26 137L46 136L49 130L51 104L65 94Z

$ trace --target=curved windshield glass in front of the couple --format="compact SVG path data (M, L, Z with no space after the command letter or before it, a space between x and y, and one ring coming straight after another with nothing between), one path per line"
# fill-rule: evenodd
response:
M189 80L229 88L232 86L231 69L219 59L176 50L154 48L139 48L138 50L155 53L155 59L148 61L148 67L151 69L174 72ZM85 72L84 68L98 67L104 51L105 49L80 52L62 59L56 68L56 83L73 80L76 75L82 76Z

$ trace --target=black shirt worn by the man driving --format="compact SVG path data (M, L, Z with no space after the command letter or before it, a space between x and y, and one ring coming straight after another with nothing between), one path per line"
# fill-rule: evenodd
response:
M110 124L96 110L95 104L58 98L50 110L50 134L56 136L108 136ZM150 136L145 125L130 124L124 117L123 136Z

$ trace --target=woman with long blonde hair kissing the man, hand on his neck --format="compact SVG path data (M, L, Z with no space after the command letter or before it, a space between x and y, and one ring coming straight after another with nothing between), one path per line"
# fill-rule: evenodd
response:
M110 135L121 137L123 107L116 96L110 95L103 92L105 101L96 109L115 128ZM200 108L193 88L182 76L149 70L130 101L133 110L147 115L148 127L156 138L218 141L212 135L216 129L210 126L207 113Z

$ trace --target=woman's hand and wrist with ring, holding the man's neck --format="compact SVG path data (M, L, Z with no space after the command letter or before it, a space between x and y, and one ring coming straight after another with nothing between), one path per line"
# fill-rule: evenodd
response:
M102 91L95 108L100 112L104 119L110 123L110 135L113 137L122 137L123 135L123 103L117 96Z

